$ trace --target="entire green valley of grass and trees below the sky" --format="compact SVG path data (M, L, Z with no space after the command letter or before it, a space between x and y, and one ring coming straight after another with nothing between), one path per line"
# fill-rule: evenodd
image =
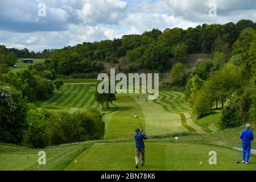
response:
M17 55L48 59L24 64ZM96 78L112 68L124 76L159 73L159 97L98 92ZM233 148L247 123L254 131L255 89L251 20L153 29L37 54L0 46L0 170L134 170L138 128L148 137L139 170L255 170L255 155L249 165L236 164L241 152ZM44 166L38 151L47 154ZM216 165L208 163L210 151Z

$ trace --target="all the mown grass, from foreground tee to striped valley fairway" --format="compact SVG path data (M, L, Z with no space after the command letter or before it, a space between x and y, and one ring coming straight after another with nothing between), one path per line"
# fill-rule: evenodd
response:
M140 127L134 115L139 116L149 137L146 166L139 170L256 169L255 155L251 155L250 165L236 164L238 153L228 148L240 147L243 127L218 130L219 110L196 119L183 93L161 90L158 100L148 102L146 94L117 94L118 100L110 109L102 110L94 98L96 80L64 82L51 100L38 101L36 106L53 111L97 109L105 122L104 140L44 148L46 166L38 165L39 149L0 144L0 170L134 170L133 134ZM208 164L212 150L217 152L217 165L213 166ZM199 166L199 162L204 165Z

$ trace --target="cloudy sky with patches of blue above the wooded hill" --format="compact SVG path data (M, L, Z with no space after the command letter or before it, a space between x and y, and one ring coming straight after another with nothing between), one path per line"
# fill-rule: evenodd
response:
M211 3L217 7L217 16L209 16ZM1 0L0 44L43 51L142 34L152 28L240 19L256 21L255 0Z

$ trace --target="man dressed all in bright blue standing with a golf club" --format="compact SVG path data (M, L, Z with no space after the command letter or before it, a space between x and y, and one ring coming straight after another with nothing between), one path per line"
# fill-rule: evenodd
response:
M250 124L246 125L246 129L242 131L240 138L242 139L243 146L243 160L242 163L249 164L249 158L251 154L251 140L254 139L253 131L250 130Z

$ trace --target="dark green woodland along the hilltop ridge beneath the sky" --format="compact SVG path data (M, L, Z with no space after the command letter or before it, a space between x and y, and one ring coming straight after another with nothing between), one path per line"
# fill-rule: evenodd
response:
M154 28L141 35L53 49L46 64L49 71L60 75L104 72L102 63L118 65L122 72L166 72L173 67L171 58L185 64L191 53L221 52L225 60L229 59L232 46L248 27L255 29L256 25L251 20L240 20L236 24L203 24L187 30L167 28L162 32Z

